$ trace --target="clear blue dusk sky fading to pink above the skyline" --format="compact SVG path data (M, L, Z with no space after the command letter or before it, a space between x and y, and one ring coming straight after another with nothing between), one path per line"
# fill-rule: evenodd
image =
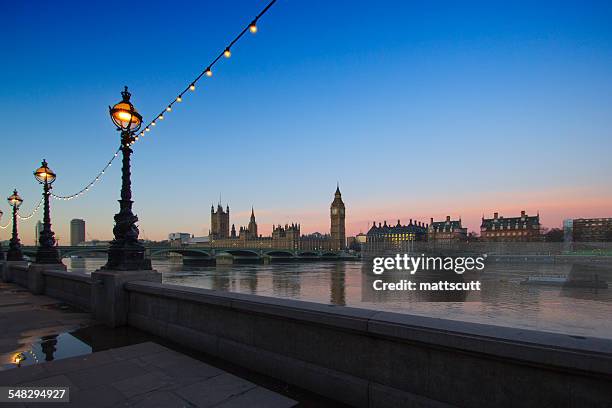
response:
M4 194L27 215L43 158L56 194L85 186L118 146L123 86L151 119L266 4L3 2ZM336 183L349 235L446 215L478 230L495 211L547 227L612 216L610 3L278 0L258 27L134 146L141 237L205 235L220 199L237 228L254 206L264 234L328 232ZM119 170L52 201L60 244L72 218L112 238Z

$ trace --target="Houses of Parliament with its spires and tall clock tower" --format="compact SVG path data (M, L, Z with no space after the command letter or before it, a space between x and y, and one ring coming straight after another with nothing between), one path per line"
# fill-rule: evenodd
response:
M230 227L229 205L225 209L221 204L210 208L209 242L213 248L275 248L303 251L340 251L346 246L345 215L346 208L342 201L340 187L336 188L334 200L329 208L330 233L301 235L300 224L291 223L272 226L271 236L262 236L257 232L255 210L251 208L251 218L247 226Z

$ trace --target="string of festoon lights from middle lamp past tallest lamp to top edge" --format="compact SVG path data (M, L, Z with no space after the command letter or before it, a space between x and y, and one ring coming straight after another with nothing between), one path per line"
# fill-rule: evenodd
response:
M261 12L259 12L259 14L257 14L257 16L255 16L255 18L253 20L251 20L251 22L244 27L244 29L242 31L240 31L240 33L234 37L234 39L223 49L223 51L221 51L217 57L215 59L212 60L212 62L210 64L208 64L208 66L206 66L206 68L200 72L200 74L195 77L192 81L189 82L189 85L187 85L181 92L178 93L178 95L171 100L166 107L158 114L154 117L153 120L151 120L145 127L144 129L142 129L137 135L136 137L133 138L132 142L129 144L129 146L133 145L134 143L136 143L141 137L145 136L147 133L149 133L153 127L157 126L159 121L162 121L165 119L166 115L170 112L172 112L172 109L174 108L175 104L181 103L183 102L183 99L185 97L185 94L188 94L190 92L195 92L196 90L196 84L198 84L198 82L203 78L203 77L207 77L210 78L213 75L213 67L219 62L219 60L221 60L222 58L230 58L232 56L232 47L242 38L242 36L244 36L244 34L249 31L252 34L257 33L257 22L259 21L259 19L270 9L270 7L272 7L272 5L274 5L274 3L276 3L276 0L272 0L270 3L268 3L268 5L266 7L263 8L263 10L261 10ZM119 152L121 151L121 147L118 148L113 157L106 163L106 166L104 166L104 168L96 175L96 177L90 182L88 183L85 187L83 187L82 189L80 189L79 191L77 191L74 194L70 194L70 195L57 195L57 194L53 194L51 193L51 196L55 199L59 199L59 200L73 200L75 198L78 198L80 196L82 196L83 194L85 194L86 192L88 192L98 181L100 181L100 179L102 178L102 176L104 176L106 170L112 165L113 161L115 160L115 158L117 158L117 155L119 154Z

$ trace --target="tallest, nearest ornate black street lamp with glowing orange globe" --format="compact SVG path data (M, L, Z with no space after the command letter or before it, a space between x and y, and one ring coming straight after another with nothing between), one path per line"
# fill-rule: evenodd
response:
M134 134L142 125L142 116L130 102L131 94L127 86L121 92L122 100L109 113L117 131L121 132L121 199L119 212L115 214L115 238L108 249L108 261L102 269L132 271L150 270L151 260L145 257L145 248L138 242L138 217L132 213L132 182L130 180L130 145L135 141Z

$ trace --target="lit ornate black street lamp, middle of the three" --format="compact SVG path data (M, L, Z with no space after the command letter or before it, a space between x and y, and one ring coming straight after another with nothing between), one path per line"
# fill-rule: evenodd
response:
M38 249L36 250L36 263L60 264L59 253L55 247L55 233L51 231L51 210L49 208L49 196L51 195L51 184L55 181L55 173L43 160L41 166L34 172L34 177L43 185L43 229L38 236Z

